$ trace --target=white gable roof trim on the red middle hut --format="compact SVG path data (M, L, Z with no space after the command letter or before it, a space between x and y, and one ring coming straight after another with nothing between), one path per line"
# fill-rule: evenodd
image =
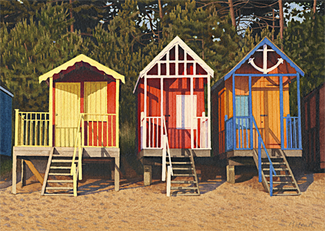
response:
M165 48L163 48L162 51L160 51L160 53L151 60L151 62L140 72L139 77L138 77L138 81L136 82L136 86L134 86L134 90L133 93L136 92L136 87L138 86L138 82L140 81L140 78L142 78L143 76L145 76L145 74L151 70L151 68L154 67L154 65L162 58L164 57L164 55L171 50L171 48L173 48L176 45L179 45L181 48L183 48L183 50L189 54L195 62L197 62L198 64L201 65L201 67L209 74L213 77L213 73L214 71L212 70L212 68L210 68L210 66L208 66L203 59L201 59L201 57L199 57L198 55L196 55L196 53L189 48L189 46L187 46L187 44L185 44L185 42L180 39L180 37L176 36Z

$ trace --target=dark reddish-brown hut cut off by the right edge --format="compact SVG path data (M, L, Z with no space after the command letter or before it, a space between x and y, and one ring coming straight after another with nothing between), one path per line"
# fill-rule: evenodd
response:
M304 97L302 113L304 160L307 169L325 169L325 82Z

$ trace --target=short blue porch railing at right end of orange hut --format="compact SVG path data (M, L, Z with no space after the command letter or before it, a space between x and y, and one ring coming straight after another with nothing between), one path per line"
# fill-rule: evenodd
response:
M284 149L299 149L299 118L291 117L288 114L284 120L286 126L286 147Z

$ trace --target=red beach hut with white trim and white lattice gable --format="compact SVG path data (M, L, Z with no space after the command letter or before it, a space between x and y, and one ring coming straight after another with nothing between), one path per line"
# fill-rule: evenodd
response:
M136 143L138 158L145 165L145 185L151 181L151 165L161 165L162 157L165 179L166 147L169 156L210 156L213 73L179 37L140 72L133 93L137 98Z

